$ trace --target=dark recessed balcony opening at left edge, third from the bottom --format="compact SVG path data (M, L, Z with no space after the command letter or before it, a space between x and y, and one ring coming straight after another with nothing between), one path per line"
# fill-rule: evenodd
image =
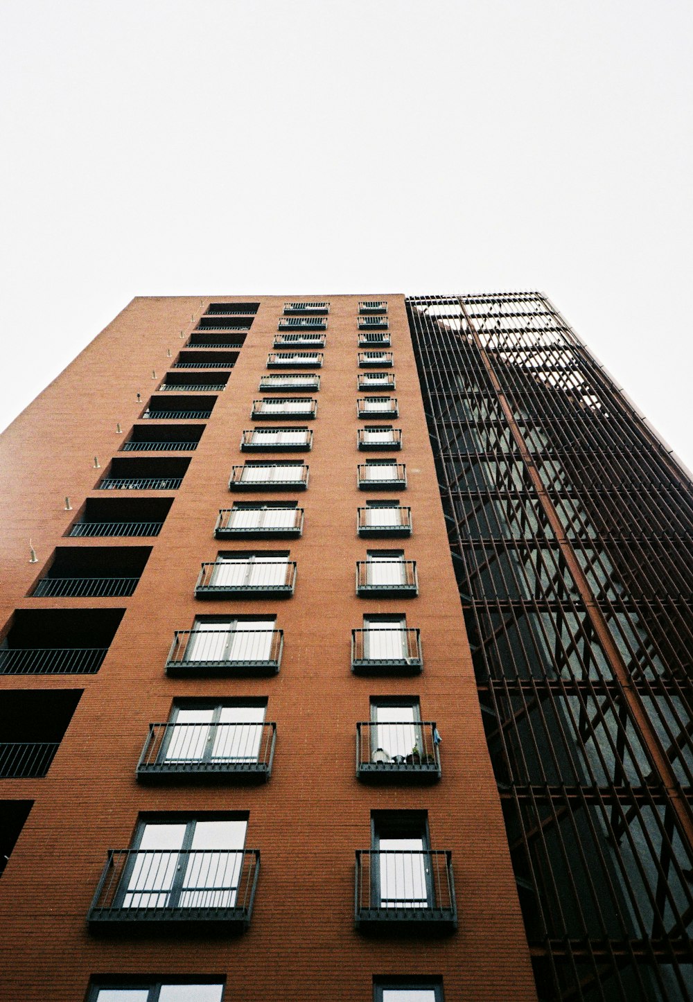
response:
M0 674L94 674L124 609L17 609L0 644Z

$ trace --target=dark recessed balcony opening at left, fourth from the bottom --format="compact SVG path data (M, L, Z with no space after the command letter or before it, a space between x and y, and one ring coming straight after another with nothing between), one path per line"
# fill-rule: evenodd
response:
M58 546L33 598L131 595L149 559L149 546Z

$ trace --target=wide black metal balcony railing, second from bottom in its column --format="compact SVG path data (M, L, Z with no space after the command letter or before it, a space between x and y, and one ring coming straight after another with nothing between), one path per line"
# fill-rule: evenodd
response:
M137 779L262 782L271 775L275 740L275 723L150 723Z

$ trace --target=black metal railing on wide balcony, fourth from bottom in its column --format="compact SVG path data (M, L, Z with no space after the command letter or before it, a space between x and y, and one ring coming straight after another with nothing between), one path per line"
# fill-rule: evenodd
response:
M288 597L293 594L295 584L295 560L216 560L202 564L195 597Z

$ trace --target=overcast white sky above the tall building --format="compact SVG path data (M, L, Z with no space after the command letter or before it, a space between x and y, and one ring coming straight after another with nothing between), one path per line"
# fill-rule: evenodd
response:
M0 16L0 427L133 296L540 289L693 466L690 0Z

